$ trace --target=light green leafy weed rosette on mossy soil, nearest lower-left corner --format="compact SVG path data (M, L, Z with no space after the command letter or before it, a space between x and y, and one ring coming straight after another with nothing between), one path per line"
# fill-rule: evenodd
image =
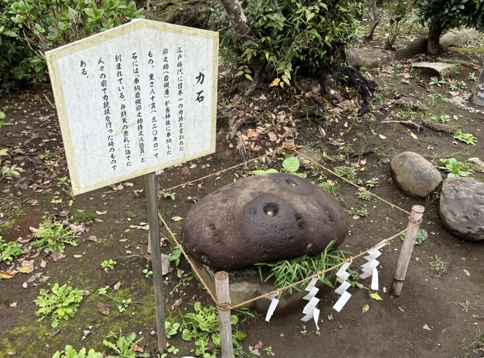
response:
M81 301L81 290L72 288L67 284L59 287L59 284L55 283L50 290L41 288L39 296L34 300L39 307L35 315L40 316L38 321L41 321L51 314L50 326L55 328L59 325L61 319L74 317Z

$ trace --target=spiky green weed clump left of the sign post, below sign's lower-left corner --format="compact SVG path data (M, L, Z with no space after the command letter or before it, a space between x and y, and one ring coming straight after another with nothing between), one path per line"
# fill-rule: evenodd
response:
M74 232L62 223L52 224L49 220L44 220L33 236L37 238L32 241L32 247L46 249L50 252L64 252L66 245L77 246Z

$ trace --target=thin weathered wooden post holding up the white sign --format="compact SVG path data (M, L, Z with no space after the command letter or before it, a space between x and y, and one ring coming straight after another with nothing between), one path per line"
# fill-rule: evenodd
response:
M155 290L156 332L158 350L165 352L167 335L165 333L165 296L163 295L163 275L161 272L160 225L158 223L158 188L156 174L145 175L146 197L148 202L149 244L153 261L153 285Z

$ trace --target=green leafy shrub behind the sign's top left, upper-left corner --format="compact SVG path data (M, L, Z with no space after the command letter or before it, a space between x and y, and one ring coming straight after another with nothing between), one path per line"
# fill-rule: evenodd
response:
M7 90L47 75L46 50L142 17L134 1L0 0L0 79Z

